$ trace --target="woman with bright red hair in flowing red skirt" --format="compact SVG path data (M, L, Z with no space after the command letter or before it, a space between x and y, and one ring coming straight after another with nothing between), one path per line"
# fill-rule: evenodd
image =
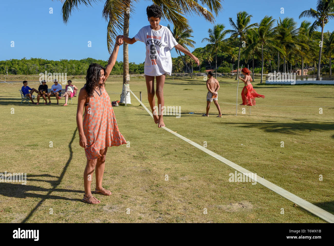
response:
M256 97L262 97L265 98L264 95L258 94L251 84L253 81L252 77L250 76L251 71L249 71L247 68L243 68L241 70L242 74L245 76L243 79L239 76L239 79L243 81L245 86L243 87L241 91L241 98L242 98L242 104L240 105L248 105L248 106L254 106L255 105L255 98Z

